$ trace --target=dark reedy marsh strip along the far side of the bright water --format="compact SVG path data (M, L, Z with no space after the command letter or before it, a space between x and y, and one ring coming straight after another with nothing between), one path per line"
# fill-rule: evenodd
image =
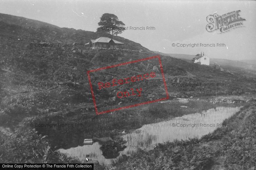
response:
M188 106L181 108L180 106ZM164 120L170 120L177 116L201 112L218 106L227 106L227 104L212 104L209 102L195 100L188 103L179 103L176 100L168 103L152 103L142 107L134 107L128 110L120 110L112 114L103 114L94 116L95 113L88 114L46 114L37 116L29 122L32 123L82 123L84 127L79 128L36 128L39 134L48 135L52 146L59 148L70 148L81 145L83 139L93 137L108 137L111 135L120 135L142 127L144 124L157 123ZM237 106L233 104L232 106ZM58 139L58 140L57 140Z

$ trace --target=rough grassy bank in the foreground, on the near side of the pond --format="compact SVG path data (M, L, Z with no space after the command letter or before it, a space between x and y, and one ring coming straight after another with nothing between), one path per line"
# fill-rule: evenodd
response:
M229 126L201 139L158 144L154 150L140 150L112 165L115 169L255 169L255 110L255 104L245 106L224 121Z

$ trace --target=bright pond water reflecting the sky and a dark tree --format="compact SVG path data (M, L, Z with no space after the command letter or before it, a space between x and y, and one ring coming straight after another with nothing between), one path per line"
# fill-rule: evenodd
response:
M241 107L217 107L200 113L176 117L168 121L146 124L129 134L121 136L124 141L94 142L92 145L59 149L82 162L86 158L108 165L120 155L129 155L138 149L151 150L157 143L188 138L200 138L218 127L228 126L223 120L230 118Z

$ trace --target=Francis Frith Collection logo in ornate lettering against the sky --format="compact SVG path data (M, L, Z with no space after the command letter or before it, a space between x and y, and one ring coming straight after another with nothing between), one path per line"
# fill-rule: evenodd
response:
M227 12L223 15L218 15L217 13L208 15L206 17L208 22L206 30L208 32L219 30L219 33L224 33L235 28L244 27L243 21L245 21L245 19L240 16L240 12L240 10L237 10Z

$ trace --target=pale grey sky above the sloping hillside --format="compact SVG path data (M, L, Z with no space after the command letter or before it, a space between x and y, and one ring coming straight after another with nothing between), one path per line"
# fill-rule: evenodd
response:
M0 13L93 32L99 27L103 13L113 13L125 27L145 27L145 30L128 29L118 36L149 50L190 55L204 52L210 58L231 60L256 59L256 1L0 0L0 3ZM241 10L240 17L245 19L244 27L225 33L206 31L208 15L237 10ZM215 44L215 47L177 47L190 43ZM217 43L225 46L216 47Z

